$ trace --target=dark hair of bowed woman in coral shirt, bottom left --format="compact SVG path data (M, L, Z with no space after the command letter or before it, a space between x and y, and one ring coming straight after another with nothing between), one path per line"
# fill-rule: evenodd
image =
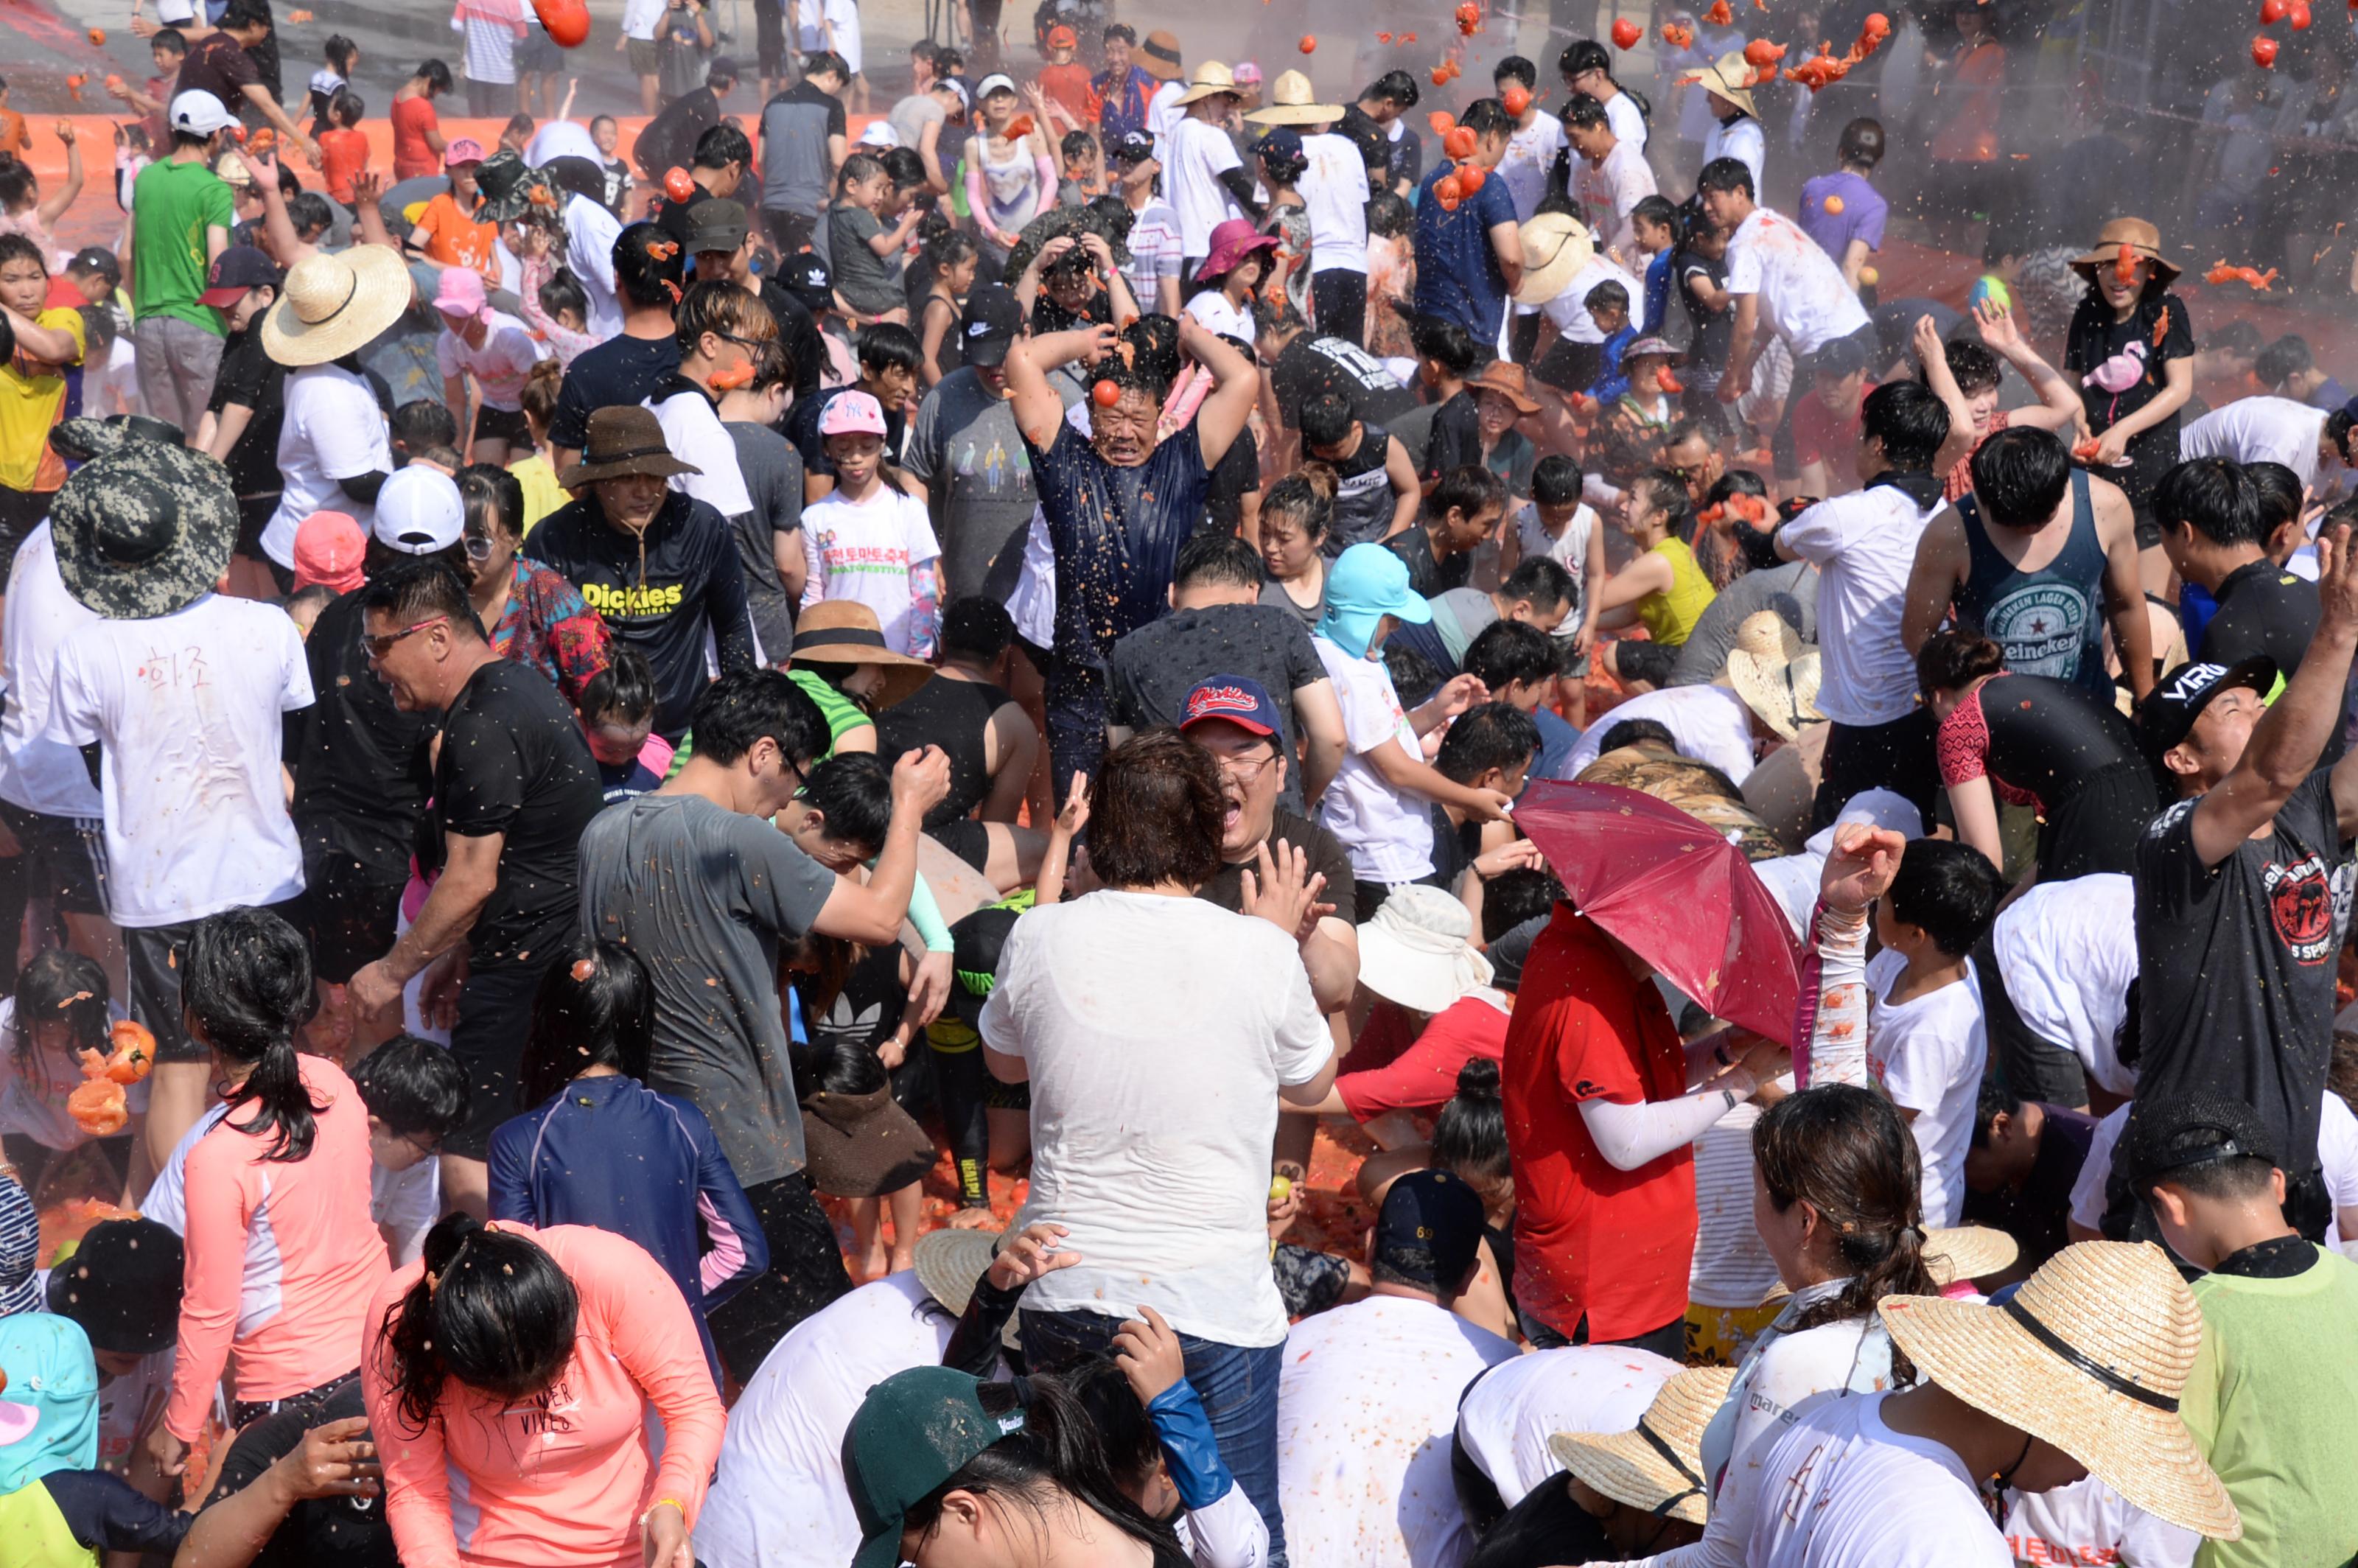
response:
M396 1427L424 1434L453 1377L509 1405L549 1391L573 1361L580 1294L540 1243L446 1214L424 1243L424 1273L384 1316L377 1353Z

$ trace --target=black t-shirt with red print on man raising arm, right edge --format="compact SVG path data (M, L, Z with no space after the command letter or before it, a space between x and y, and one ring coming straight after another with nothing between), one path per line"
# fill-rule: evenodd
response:
M2136 846L2139 1096L2209 1092L2259 1111L2287 1177L2318 1170L2349 868L2318 769L2219 865L2179 802Z

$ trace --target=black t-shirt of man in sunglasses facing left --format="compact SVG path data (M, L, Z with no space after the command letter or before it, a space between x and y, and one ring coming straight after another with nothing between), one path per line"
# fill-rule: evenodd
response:
M582 726L528 665L493 660L443 712L434 806L420 865L443 863L443 835L505 835L500 882L467 931L476 971L547 960L573 931L582 828L606 788Z

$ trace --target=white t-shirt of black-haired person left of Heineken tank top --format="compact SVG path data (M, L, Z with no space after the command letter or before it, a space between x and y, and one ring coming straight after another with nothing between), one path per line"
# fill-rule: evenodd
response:
M1778 535L1818 568L1818 712L1835 724L1891 724L1915 712L1915 660L1901 641L1901 611L1915 547L1945 505L1917 509L1905 493L1870 486L1820 500Z

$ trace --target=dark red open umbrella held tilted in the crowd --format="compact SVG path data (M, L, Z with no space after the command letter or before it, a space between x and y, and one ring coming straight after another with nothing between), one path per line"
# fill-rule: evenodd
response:
M1792 1042L1802 979L1785 913L1743 851L1639 790L1535 783L1514 823L1573 905L1717 1019Z

